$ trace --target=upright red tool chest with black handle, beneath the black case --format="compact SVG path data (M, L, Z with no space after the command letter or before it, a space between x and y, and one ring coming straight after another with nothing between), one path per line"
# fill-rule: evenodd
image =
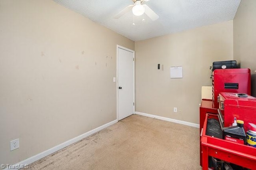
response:
M250 69L216 69L212 72L212 101L218 109L220 92L251 94Z

